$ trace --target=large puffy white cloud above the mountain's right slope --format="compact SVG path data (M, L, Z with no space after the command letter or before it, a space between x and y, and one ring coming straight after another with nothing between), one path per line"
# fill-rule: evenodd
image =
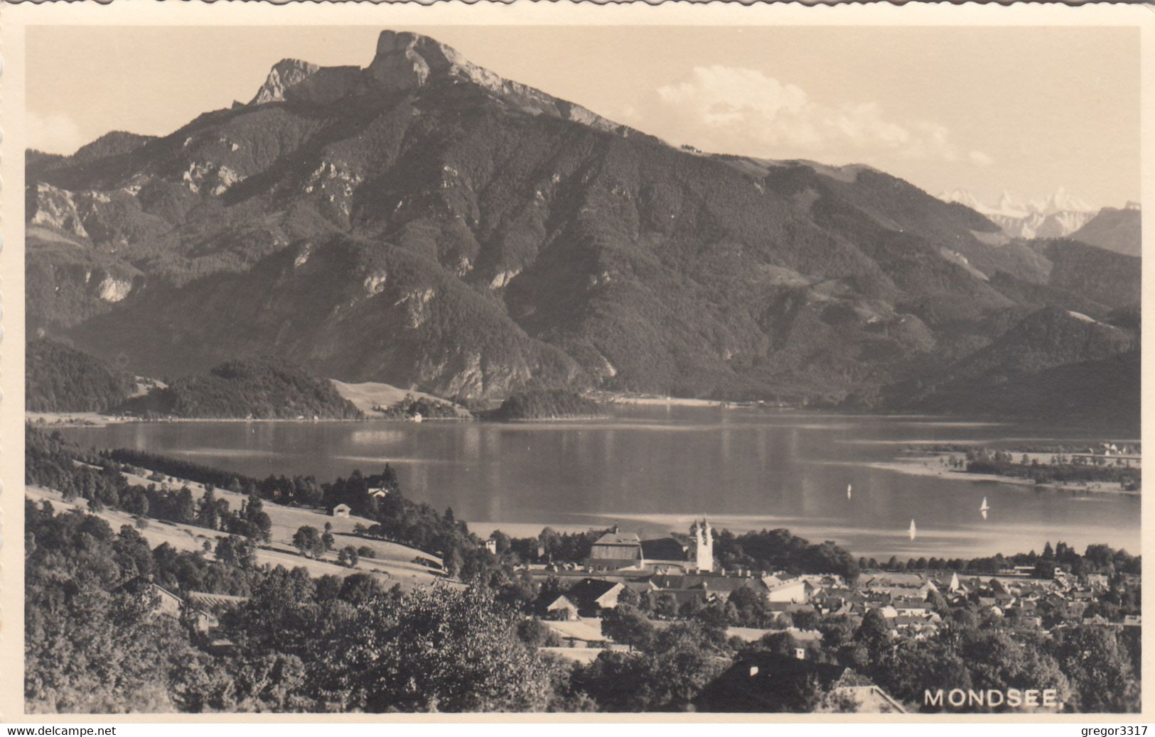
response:
M657 89L661 111L685 142L717 151L781 155L889 153L959 161L949 130L897 121L877 103L827 105L755 69L714 65ZM990 157L966 155L981 165Z

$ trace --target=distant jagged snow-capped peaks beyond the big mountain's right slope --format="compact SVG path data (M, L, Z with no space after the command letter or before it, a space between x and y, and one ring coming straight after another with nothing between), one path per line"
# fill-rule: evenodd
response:
M944 191L938 197L985 215L1013 238L1063 238L1081 228L1097 212L1063 187L1048 197L1030 200L1026 204L1007 191L1003 193L994 205L985 204L966 189Z

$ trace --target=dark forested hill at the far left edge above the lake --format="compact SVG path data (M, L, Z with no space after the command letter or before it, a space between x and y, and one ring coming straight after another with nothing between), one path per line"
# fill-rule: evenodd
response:
M29 412L107 412L136 388L133 377L55 340L29 340L24 406Z

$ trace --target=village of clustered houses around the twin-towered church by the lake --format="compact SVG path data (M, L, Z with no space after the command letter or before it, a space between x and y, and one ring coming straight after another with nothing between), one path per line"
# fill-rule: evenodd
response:
M895 713L917 705L904 705L851 669L822 657L826 625L836 622L858 631L867 617L881 618L895 645L932 639L949 626L947 619L962 617L1042 637L1080 625L1135 632L1141 626L1139 615L1104 616L1100 599L1112 586L1104 573L1075 574L1050 562L982 576L863 571L854 581L837 573L721 570L714 559L713 535L705 519L694 522L690 535L650 540L613 528L594 543L586 561L524 566L534 580L550 582L542 586L543 593L560 589L539 601L541 619L553 634L550 645L539 649L590 662L605 649L632 649L629 644L614 641L608 632L612 627L605 626L623 609L646 612L661 630L711 606L754 601L768 612L767 626L731 625L725 634L739 647L773 640L778 652L747 648L754 652L746 656L739 652L733 665L703 692L700 706L781 710L783 693L802 683L818 683L856 712ZM493 552L495 542L486 541ZM1140 578L1123 574L1115 585L1138 591Z

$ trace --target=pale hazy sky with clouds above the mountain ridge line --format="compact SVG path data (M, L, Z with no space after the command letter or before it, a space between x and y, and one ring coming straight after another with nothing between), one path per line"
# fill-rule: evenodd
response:
M366 66L381 27L32 27L29 146L164 135L248 101L280 59ZM994 203L1140 197L1127 28L396 27L474 63L721 153L869 164Z

